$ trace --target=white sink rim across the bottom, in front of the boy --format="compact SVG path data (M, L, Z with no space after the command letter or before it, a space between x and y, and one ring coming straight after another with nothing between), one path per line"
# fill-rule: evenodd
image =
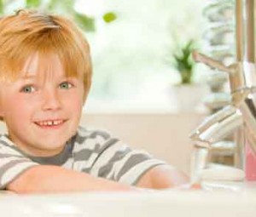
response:
M207 184L208 190L211 185ZM233 186L232 186L233 185ZM217 185L213 191L165 190L56 195L0 195L1 217L254 217L256 184Z

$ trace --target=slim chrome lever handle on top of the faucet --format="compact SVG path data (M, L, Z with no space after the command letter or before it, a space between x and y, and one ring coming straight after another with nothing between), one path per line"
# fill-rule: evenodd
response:
M212 69L218 69L219 71L225 71L228 73L233 72L233 68L229 66L225 66L223 63L221 63L218 60L214 60L211 57L208 57L205 54L201 54L198 51L194 50L192 52L192 57L196 62L201 62L206 64L207 66L210 66Z

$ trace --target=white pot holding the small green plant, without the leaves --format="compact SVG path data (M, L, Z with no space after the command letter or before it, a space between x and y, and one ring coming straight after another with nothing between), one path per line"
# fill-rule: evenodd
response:
M178 111L195 111L202 106L202 100L208 92L207 85L202 84L178 84L172 86Z

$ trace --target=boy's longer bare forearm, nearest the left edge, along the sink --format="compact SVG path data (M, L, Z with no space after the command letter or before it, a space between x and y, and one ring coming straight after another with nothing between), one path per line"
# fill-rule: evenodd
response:
M38 165L27 169L7 186L7 190L21 194L71 191L131 191L132 189L131 186L125 186L111 180L48 165Z

